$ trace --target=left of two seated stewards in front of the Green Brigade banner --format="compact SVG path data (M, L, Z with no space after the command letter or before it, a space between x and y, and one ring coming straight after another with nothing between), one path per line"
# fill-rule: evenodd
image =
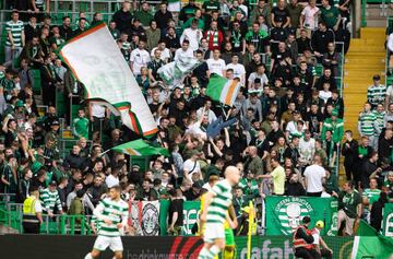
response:
M314 238L312 237L311 231L308 229L311 219L305 216L301 222L302 224L294 232L293 246L295 256L303 259L321 258L312 245Z

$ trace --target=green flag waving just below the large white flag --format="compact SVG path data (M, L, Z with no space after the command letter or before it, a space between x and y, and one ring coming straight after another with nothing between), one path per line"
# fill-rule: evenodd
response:
M132 156L147 156L147 155L165 155L169 156L169 151L164 148L156 148L146 143L146 141L139 139L127 142L121 145L111 148L112 151L132 155Z

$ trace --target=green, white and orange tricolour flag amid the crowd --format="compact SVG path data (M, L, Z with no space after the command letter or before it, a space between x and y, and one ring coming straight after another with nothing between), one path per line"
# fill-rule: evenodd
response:
M228 80L214 73L209 80L206 95L222 104L233 106L239 90L238 79Z

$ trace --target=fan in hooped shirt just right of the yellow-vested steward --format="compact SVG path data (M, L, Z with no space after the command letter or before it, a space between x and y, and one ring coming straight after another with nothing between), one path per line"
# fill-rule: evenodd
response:
M57 190L57 183L55 180L50 181L48 188L40 191L39 199L43 203L43 211L50 217L52 217L56 212L59 214L63 213L59 192Z

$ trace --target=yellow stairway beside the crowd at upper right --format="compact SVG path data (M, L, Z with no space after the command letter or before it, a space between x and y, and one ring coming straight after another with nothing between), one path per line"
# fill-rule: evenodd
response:
M360 38L350 40L349 51L344 64L344 128L352 130L354 138L359 139L357 121L366 102L367 89L372 84L372 75L380 74L384 84L385 70L385 28L364 27ZM343 162L343 158L341 160ZM345 180L345 172L341 166L340 183Z

